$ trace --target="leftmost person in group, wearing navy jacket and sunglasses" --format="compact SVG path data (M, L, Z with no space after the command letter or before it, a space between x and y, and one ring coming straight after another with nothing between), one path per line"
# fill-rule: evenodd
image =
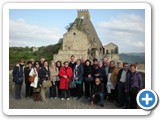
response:
M12 72L13 82L15 83L15 98L17 100L21 99L23 73L24 73L24 60L20 60L19 63L14 67Z

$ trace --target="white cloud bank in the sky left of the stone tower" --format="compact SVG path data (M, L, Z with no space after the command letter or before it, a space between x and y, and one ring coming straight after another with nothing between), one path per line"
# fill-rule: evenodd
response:
M46 46L62 37L59 29L31 25L23 19L9 21L10 46Z

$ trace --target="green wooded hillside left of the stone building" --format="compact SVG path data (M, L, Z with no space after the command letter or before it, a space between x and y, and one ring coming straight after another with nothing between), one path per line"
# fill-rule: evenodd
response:
M31 58L40 60L41 57L45 57L48 61L53 60L53 54L57 54L62 43L55 45L49 45L46 47L39 47L39 51L32 52L32 47L10 47L9 48L9 69L13 69L14 65L19 59L24 59L26 62Z

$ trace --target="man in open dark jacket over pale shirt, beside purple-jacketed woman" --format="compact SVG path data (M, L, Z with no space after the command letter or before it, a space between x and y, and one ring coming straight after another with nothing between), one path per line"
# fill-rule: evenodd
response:
M128 63L123 64L123 68L118 72L117 83L118 83L118 104L117 107L123 107L125 105L125 83L126 75L128 73Z

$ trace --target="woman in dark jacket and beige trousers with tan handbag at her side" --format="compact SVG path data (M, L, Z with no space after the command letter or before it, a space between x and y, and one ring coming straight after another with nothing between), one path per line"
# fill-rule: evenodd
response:
M50 71L47 60L43 62L40 72L41 97L43 102L47 102L45 95L46 87L43 86L44 82L48 82L48 80L50 80Z

